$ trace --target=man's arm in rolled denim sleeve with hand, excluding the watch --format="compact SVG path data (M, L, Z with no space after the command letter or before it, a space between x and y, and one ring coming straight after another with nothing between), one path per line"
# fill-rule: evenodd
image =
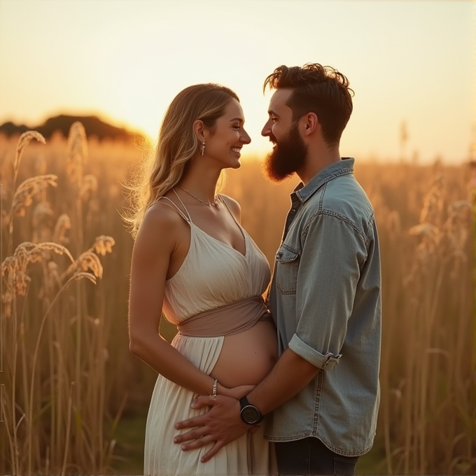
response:
M336 216L314 217L303 235L297 276L295 335L273 370L248 395L248 402L262 414L272 412L297 395L319 369L331 370L339 362L360 276L360 263L366 256L364 238ZM250 428L241 422L237 400L217 398L216 402L210 402L208 397L200 397L194 408L206 405L213 406L210 412L183 421L176 428L202 427L174 439L186 442L200 438L183 445L184 450L216 442L203 461L208 461L221 447Z

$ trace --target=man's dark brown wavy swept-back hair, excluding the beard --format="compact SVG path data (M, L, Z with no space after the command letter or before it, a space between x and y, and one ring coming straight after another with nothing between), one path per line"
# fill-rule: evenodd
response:
M315 113L325 142L338 145L342 131L352 112L353 90L349 80L331 66L307 63L304 66L279 66L270 74L262 87L290 89L287 106L293 111L293 121L304 114Z

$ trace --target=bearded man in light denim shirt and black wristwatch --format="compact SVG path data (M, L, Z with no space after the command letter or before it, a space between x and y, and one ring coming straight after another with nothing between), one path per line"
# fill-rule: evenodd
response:
M268 302L279 360L241 400L200 397L211 406L177 428L188 451L253 433L264 415L280 475L353 475L372 447L379 408L381 269L374 211L339 141L353 91L321 64L279 66L266 80L276 91L262 135L274 144L270 179L297 174L299 185L276 253Z

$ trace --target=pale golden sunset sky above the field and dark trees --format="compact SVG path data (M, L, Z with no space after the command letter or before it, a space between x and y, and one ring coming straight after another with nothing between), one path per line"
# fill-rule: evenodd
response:
M455 0L0 0L0 123L95 113L155 138L177 92L214 82L237 92L248 153L262 154L263 80L320 62L356 92L342 155L461 162L475 20L476 3Z

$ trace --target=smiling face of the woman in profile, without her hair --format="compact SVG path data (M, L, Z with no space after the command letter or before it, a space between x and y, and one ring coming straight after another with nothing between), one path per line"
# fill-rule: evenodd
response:
M241 165L241 147L250 142L244 130L243 110L239 102L232 99L223 116L216 120L214 132L206 134L204 155L220 162L223 169L238 169Z

